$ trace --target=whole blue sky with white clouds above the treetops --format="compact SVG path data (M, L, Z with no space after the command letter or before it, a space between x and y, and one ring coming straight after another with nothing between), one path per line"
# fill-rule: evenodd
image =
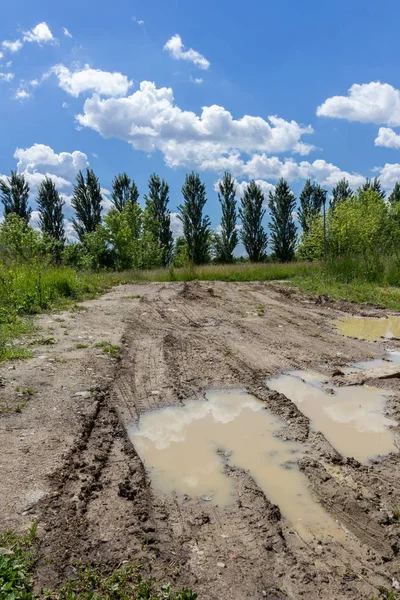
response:
M45 174L67 205L78 168L104 190L126 171L238 194L281 176L330 189L400 180L400 5L396 1L8 2L0 24L0 174ZM64 31L66 28L66 32ZM8 43L11 42L11 43ZM105 210L109 206L105 192ZM71 216L70 208L66 209Z

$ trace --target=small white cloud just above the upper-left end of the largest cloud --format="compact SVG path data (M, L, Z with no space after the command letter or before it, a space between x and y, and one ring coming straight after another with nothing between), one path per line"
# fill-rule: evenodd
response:
M75 98L84 92L97 92L103 96L124 96L132 86L132 81L122 73L92 69L89 65L73 72L64 65L55 65L51 72L57 76L59 87Z

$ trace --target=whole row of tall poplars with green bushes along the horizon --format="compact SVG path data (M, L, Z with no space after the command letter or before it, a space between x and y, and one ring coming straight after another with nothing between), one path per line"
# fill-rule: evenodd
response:
M85 173L78 172L71 200L74 210L71 222L78 242L67 243L63 214L65 202L53 180L45 177L36 197L41 231L39 238L38 232L32 231L29 226L32 212L29 185L23 174L11 171L10 177L0 180L0 200L5 215L0 228L0 247L8 246L8 253L18 255L21 253L18 243L25 243L32 247L31 250L24 249L28 254L50 253L57 262L92 268L200 265L210 260L232 263L239 242L242 242L252 262L267 259L268 244L275 260L288 262L296 254L313 260L321 258L324 237L323 232L321 237L322 213L327 211L329 250L332 252L336 243L333 241L335 218L336 221L339 217L345 219L348 227L350 220L344 214L343 206L348 203L349 207L352 206L351 202L354 204L354 199L359 200L363 194L364 199L365 195L372 194L385 203L385 192L378 179L367 179L356 192L351 190L346 179L342 179L332 189L329 206L326 206L327 190L307 180L299 196L299 239L295 218L296 197L285 179L279 180L274 190L269 192L268 199L261 187L250 181L238 201L236 181L229 172L225 172L218 183L221 224L214 232L210 218L205 214L206 186L200 176L192 172L185 177L183 201L178 206L183 236L174 242L169 186L164 179L156 174L150 175L142 208L135 181L126 173L116 175L111 189L112 208L102 217L100 182L94 171L87 169ZM398 200L400 185L396 184L389 197L389 205ZM266 205L270 214L269 234L264 227Z

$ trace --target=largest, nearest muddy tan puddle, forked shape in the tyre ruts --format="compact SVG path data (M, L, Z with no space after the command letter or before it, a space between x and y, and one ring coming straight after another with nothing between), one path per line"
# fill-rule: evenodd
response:
M224 462L246 469L266 496L304 537L343 537L339 525L315 502L296 460L302 447L276 437L283 423L245 392L213 391L141 416L129 436L161 492L198 496L229 505L234 479Z

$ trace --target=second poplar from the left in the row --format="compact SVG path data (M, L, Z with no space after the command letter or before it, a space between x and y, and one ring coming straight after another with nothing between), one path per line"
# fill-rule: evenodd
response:
M64 202L50 177L46 177L40 184L36 199L39 210L39 222L42 233L47 233L53 239L65 243Z

